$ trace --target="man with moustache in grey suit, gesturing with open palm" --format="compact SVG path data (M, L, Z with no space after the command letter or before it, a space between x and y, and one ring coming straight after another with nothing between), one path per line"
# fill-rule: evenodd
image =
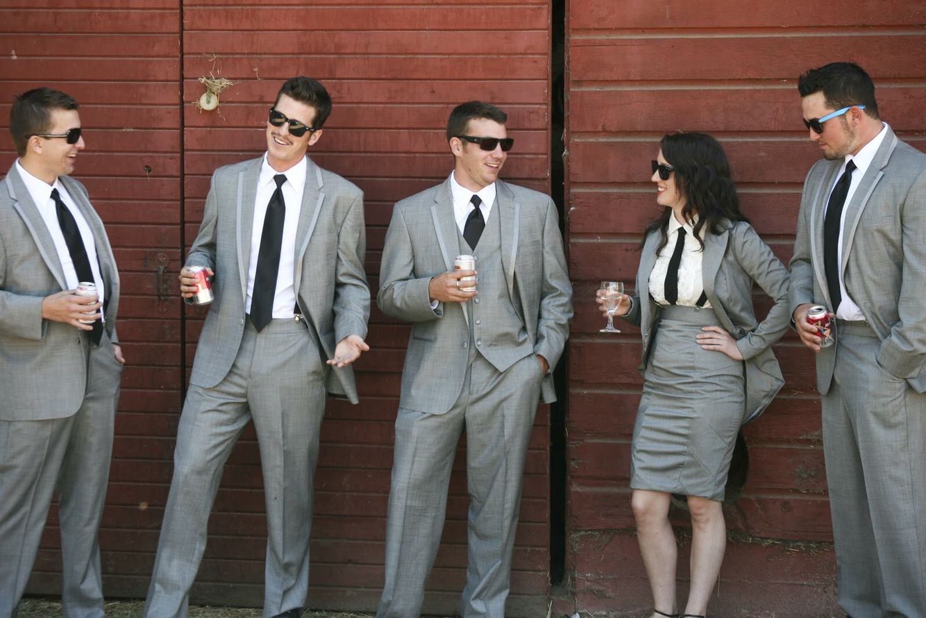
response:
M357 403L350 364L369 349L363 194L306 155L331 108L321 83L288 80L269 110L266 155L212 176L180 279L189 298L189 267L206 267L215 301L177 431L148 618L186 615L222 466L252 419L267 506L263 615L306 605L325 393Z

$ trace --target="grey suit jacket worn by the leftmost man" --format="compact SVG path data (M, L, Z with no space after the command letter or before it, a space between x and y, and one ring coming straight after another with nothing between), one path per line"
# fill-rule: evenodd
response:
M83 185L60 182L94 233L106 284L106 333L112 343L119 310L119 272L103 221ZM0 419L67 418L81 406L87 359L77 329L42 319L44 296L67 290L55 243L14 164L0 183ZM109 346L104 337L101 345ZM112 359L114 375L121 371Z

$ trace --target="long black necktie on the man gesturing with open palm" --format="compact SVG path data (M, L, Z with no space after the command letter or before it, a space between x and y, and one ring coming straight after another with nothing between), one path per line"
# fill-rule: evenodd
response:
M280 251L283 242L283 221L286 219L286 204L283 202L282 185L285 174L273 177L277 188L267 203L264 216L264 230L260 233L260 249L257 251L257 273L254 275L254 290L251 293L251 322L258 331L267 326L273 317L273 299L277 293L277 273L280 271Z

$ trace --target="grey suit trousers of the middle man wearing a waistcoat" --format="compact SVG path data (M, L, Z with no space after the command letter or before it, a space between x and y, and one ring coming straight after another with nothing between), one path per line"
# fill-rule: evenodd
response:
M466 371L463 390L446 413L398 410L386 581L377 618L420 614L444 530L447 486L464 427L469 569L460 614L505 616L521 480L543 376L534 355L506 372L477 356Z

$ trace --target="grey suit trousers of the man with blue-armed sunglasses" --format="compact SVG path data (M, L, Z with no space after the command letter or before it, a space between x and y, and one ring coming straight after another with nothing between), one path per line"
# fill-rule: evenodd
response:
M838 322L823 444L837 600L853 618L926 612L926 394L885 372L865 322ZM883 612L882 612L883 610Z

